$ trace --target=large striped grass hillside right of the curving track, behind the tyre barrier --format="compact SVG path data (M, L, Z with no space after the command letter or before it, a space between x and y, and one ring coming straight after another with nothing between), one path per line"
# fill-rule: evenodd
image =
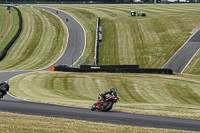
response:
M84 26L88 46L84 56L90 58L89 64L93 64L97 17L101 17L103 26L103 42L100 44L102 65L138 64L141 67L161 68L200 28L199 4L45 6L73 15ZM139 9L147 16L131 17L130 11ZM198 66L199 61L195 58L186 72L199 74Z

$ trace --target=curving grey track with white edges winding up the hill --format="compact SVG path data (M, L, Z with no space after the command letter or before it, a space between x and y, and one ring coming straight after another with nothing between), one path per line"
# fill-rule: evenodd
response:
M47 10L57 15L68 29L68 43L67 49L63 53L62 57L55 62L52 66L68 65L72 66L75 61L78 61L85 50L85 31L83 27L72 16L47 7L37 7L43 10ZM58 13L57 13L58 12Z

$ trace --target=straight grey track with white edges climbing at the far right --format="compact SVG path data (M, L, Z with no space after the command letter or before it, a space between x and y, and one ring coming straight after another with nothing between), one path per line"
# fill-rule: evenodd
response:
M162 67L182 73L192 58L200 50L200 29Z

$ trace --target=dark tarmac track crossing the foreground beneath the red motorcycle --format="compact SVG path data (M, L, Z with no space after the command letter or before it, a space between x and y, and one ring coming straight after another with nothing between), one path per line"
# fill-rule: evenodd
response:
M0 107L1 111L28 115L41 115L132 126L200 131L200 121L191 119L141 115L114 111L91 111L87 108L77 108L28 101L0 100Z

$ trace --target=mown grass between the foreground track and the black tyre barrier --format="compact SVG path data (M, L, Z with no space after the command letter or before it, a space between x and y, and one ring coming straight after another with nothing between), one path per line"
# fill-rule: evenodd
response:
M19 98L90 108L114 87L115 111L200 119L200 77L152 74L35 72L11 81ZM39 90L39 91L36 91Z

